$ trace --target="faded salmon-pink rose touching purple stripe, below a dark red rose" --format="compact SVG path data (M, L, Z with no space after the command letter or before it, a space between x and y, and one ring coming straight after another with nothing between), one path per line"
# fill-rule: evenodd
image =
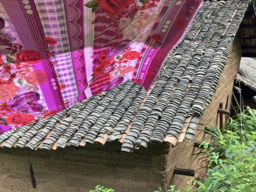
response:
M37 70L29 73L25 77L25 79L29 84L33 84L34 86L39 86L39 84L42 84L47 81L47 76L46 76L46 72Z

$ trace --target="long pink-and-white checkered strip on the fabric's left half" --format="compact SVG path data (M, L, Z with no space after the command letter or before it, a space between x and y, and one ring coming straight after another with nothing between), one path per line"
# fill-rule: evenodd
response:
M61 91L63 101L73 100L78 96L75 73L71 57L71 50L68 38L66 13L63 1L35 1L36 8L41 19L46 37L53 37L57 41L54 46L54 65L58 72L59 83L65 83L66 89Z

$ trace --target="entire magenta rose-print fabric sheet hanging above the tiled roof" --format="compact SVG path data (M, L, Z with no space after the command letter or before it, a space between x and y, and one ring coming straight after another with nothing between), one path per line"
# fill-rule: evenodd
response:
M148 90L202 0L0 0L0 134L127 80Z

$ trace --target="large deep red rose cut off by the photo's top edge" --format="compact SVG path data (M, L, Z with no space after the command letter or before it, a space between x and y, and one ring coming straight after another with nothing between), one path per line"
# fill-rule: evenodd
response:
M107 15L115 18L127 5L131 4L134 4L134 0L99 0L98 6L102 8Z

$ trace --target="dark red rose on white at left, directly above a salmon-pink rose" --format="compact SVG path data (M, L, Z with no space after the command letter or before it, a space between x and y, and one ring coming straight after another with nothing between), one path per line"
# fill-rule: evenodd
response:
M17 62L27 62L33 64L42 60L42 57L38 51L32 49L25 49L20 51L15 56Z

